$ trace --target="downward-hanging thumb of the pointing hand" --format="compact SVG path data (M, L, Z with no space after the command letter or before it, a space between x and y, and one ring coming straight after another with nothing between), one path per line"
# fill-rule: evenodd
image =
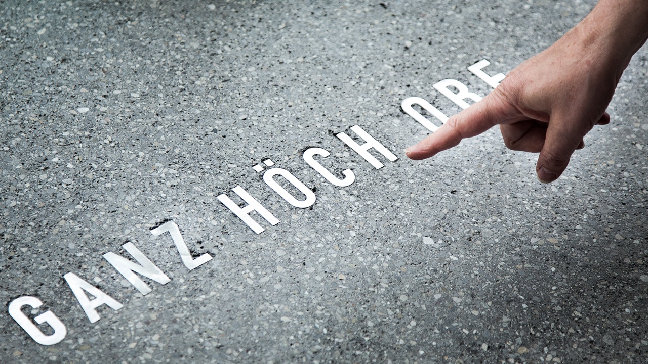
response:
M563 117L552 119L535 166L538 180L542 183L551 183L561 176L586 133L577 127L580 123L568 122Z

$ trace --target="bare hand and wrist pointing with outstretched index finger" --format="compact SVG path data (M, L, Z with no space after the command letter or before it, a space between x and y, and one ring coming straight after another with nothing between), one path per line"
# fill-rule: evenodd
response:
M634 42L619 43L616 37L625 34L615 34L614 28L603 33L609 30L606 25L609 27L611 21L620 29L627 25L627 17L637 18L627 12L616 14L618 17L603 15L610 14L606 8L610 3L615 2L601 1L551 47L513 69L480 102L450 117L432 135L407 148L407 156L415 160L432 157L463 138L499 124L508 148L540 153L536 172L542 183L558 179L573 152L584 147L586 133L597 124L610 122L605 109L632 54L645 42L646 17L638 16ZM628 3L643 3L641 10L648 10L648 1ZM601 17L605 22L601 23Z

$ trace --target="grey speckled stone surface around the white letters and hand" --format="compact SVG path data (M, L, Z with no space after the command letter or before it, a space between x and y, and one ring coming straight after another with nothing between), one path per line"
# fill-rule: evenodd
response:
M0 362L645 363L644 47L564 176L494 129L428 161L400 102L482 59L506 73L593 1L2 1ZM375 169L335 135L399 155ZM302 158L356 181L336 187ZM314 190L292 207L254 165ZM285 181L283 181L284 185ZM276 216L255 234L216 196ZM287 188L287 187L286 187ZM288 189L299 196L294 189ZM173 220L194 256L189 270ZM102 257L133 242L171 279L141 295ZM124 304L90 323L73 272ZM35 296L67 327L35 343L8 315ZM47 325L41 325L51 334ZM49 330L49 331L48 331Z

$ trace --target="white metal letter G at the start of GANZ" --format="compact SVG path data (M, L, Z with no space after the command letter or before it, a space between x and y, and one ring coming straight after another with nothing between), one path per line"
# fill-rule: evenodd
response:
M60 343L67 335L67 329L61 320L54 315L53 312L47 310L45 313L34 317L34 321L38 324L47 323L54 329L54 334L45 335L32 321L22 312L21 308L30 306L31 308L39 308L43 305L40 299L31 296L18 297L9 304L9 315L16 320L29 336L39 343L40 345L54 345Z

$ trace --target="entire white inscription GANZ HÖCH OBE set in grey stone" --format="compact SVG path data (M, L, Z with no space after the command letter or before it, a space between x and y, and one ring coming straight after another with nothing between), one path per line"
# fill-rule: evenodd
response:
M494 76L489 76L488 74L486 74L483 71L483 68L487 67L490 64L491 63L489 63L487 60L481 60L480 62L477 62L474 65L468 67L468 70L494 88L499 84L499 82L503 80L504 74L498 73ZM466 85L452 78L437 82L433 85L433 87L442 95L449 98L452 102L463 109L466 109L470 106L470 104L466 102L467 99L473 100L474 102L481 100L481 97L475 93L470 92ZM451 91L450 87L452 87L455 91ZM432 106L432 104L430 104L430 102L424 100L421 97L408 97L403 100L401 103L402 110L413 117L413 119L415 119L417 122L421 123L421 125L427 128L429 131L434 132L439 127L430 122L430 120L426 119L426 117L421 115L421 113L413 109L414 105L420 106L430 115L438 119L441 123L444 123L446 122L446 120L448 120L448 117L444 113L439 111L439 109L435 108L434 106ZM353 149L367 162L371 163L371 165L376 169L380 169L384 165L380 161L378 161L378 159L376 159L374 155L370 154L369 150L375 150L375 152L382 154L386 159L392 162L398 159L396 155L385 148L385 146L383 146L380 142L376 141L376 139L371 137L371 135L360 128L360 126L352 126L351 131L353 131L359 139L363 139L365 141L364 144L358 144L346 133L338 133L336 134L336 137L347 144L347 146ZM329 155L330 152L323 148L308 148L303 153L303 159L309 166L312 167L313 170L318 172L322 177L329 181L329 183L332 183L332 185L335 185L337 187L348 187L349 185L354 183L355 175L351 170L343 170L343 178L339 178L335 174L330 172L330 170L327 170L327 168L322 166L315 159L316 156L319 158L326 158L329 157ZM252 168L256 172L262 172L266 169L266 167L272 167L266 170L263 174L263 181L266 183L266 185L272 188L272 190L277 192L279 196L281 196L286 200L286 202L290 203L290 205L294 207L297 207L299 209L311 207L316 200L315 193L304 183L299 181L299 179L297 179L297 177L295 177L288 170L275 167L274 165L275 164L273 163L273 161L266 159L266 161L263 161L263 165L255 165ZM288 183L297 188L297 190L299 190L299 192L301 192L303 196L300 195L295 197L293 194L288 192L288 190L277 183L277 180L275 179L275 177L277 176L283 177L286 181L288 181ZM247 203L247 205L240 207L238 203L233 201L233 199L227 196L227 194L220 194L220 196L218 196L218 200L221 201L223 205L227 207L227 209L238 216L238 218L240 218L242 222L246 223L246 225L248 225L248 227L250 227L250 229L252 229L255 233L260 234L265 229L260 225L259 222L255 221L249 215L249 213L252 211L256 211L257 214L259 214L260 217L264 218L266 222L270 223L270 225L277 225L279 223L279 219L277 219L272 214L272 212L263 207L263 205L256 198L251 196L242 187L234 187L232 188L232 192L234 192L234 194L236 194L238 198L242 199L242 201ZM170 238L173 240L176 248L178 249L178 253L183 264L185 264L187 269L189 269L190 271L202 266L212 259L212 256L208 253L194 258L191 253L189 253L189 248L187 247L187 244L185 243L185 240L180 233L178 225L176 225L176 223L173 221L165 222L155 229L152 229L150 232L154 236L160 236L164 233L169 233ZM115 270L119 272L119 274L124 277L124 279L130 282L130 284L132 284L132 286L137 289L139 293L146 295L151 291L151 288L135 273L138 273L139 275L142 275L143 277L146 277L150 280L154 280L159 284L167 284L171 281L171 279L169 279L169 277L161 269L159 269L159 267L151 262L151 260L149 260L146 255L144 255L144 253L137 249L137 247L135 247L132 242L127 242L126 244L122 245L122 247L126 252L128 252L128 254L130 254L130 256L132 256L132 258L135 260L134 262L133 260L124 258L123 256L117 255L116 253L112 252L104 254L103 257L108 261L108 263L110 263L111 266L115 268ZM113 299L113 297L98 289L96 286L93 286L93 284L90 284L86 280L78 277L78 275L76 275L75 273L66 273L63 278L69 285L72 294L76 297L76 301L78 301L79 306L81 306L82 310L86 313L90 323L96 323L101 318L99 316L99 313L97 312L97 308L99 306L105 304L115 311L120 310L122 307L124 307L123 304L117 302L117 300ZM89 293L94 298L90 299L87 293ZM27 334L32 339L34 339L34 341L36 341L36 343L39 343L41 345L54 345L56 343L60 343L65 338L67 329L65 328L65 324L60 319L58 319L54 312L48 310L47 312L41 313L40 315L34 317L33 321L27 316L27 312L29 312L27 306L32 308L31 312L36 312L36 309L42 305L43 302L37 297L23 296L11 301L8 306L8 311L9 315L16 321L16 323L19 324L21 328L23 328L23 330L25 330L25 332L27 332ZM38 325L48 324L49 326L51 326L51 330L48 331L53 330L53 333L46 335L38 325L34 324L34 321Z

